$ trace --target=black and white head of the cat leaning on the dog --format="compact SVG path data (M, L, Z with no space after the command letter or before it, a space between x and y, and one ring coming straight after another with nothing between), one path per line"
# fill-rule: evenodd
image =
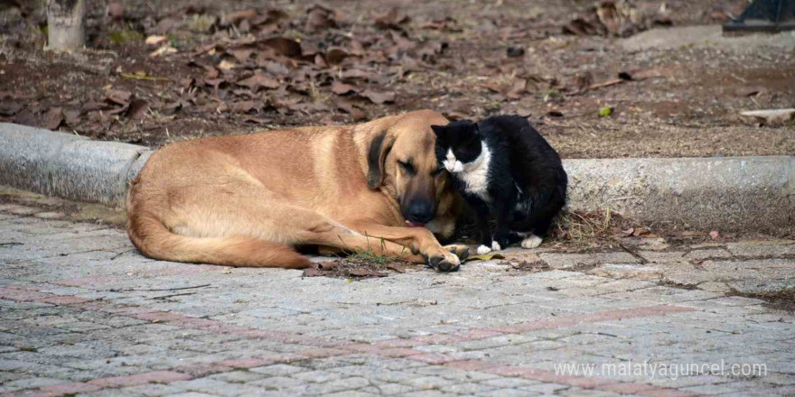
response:
M448 125L431 125L436 134L436 160L447 171L461 172L464 164L481 155L482 143L478 125L469 120Z

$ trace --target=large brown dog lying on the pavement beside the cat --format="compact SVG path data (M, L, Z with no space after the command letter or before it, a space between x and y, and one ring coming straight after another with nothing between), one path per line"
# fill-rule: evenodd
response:
M176 262L304 268L293 247L317 245L455 270L466 246L432 233L452 235L457 215L430 128L445 124L421 110L173 143L133 180L127 232L146 256Z

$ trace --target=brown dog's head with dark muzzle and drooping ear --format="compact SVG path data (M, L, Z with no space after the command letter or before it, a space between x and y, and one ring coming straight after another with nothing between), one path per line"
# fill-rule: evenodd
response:
M430 110L388 119L369 141L368 186L384 188L397 199L408 226L425 226L434 218L448 183L436 162L431 125L446 125L447 119Z

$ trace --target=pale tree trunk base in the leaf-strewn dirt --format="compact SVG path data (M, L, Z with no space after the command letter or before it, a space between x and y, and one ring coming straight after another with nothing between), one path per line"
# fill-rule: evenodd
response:
M50 50L79 49L86 42L83 20L85 0L49 0L47 2L47 30Z

